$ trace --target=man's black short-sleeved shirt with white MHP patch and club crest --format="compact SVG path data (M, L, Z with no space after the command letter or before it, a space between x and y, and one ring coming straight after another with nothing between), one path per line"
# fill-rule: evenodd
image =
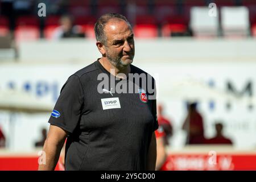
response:
M147 75L130 66L131 73ZM109 76L109 85L98 89L103 80L98 78L101 73ZM127 92L131 85L134 89L139 86L140 92L114 93L110 73L98 60L65 82L49 123L69 133L66 170L146 169L151 135L158 129L156 100L148 99L152 93L142 88L142 82L138 85L129 77L114 81L115 85L121 82L127 84ZM103 89L103 93L98 92Z

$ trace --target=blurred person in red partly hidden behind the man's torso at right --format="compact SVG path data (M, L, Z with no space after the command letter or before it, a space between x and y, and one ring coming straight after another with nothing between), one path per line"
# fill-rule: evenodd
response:
M165 145L169 144L169 140L172 137L173 129L172 129L172 123L169 119L164 117L163 115L163 105L158 105L158 125L163 128L164 132L164 143Z

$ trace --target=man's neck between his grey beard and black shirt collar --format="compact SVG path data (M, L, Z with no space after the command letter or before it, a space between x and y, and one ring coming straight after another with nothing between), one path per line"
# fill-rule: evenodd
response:
M99 59L101 65L106 69L106 71L110 72L112 75L117 76L119 78L124 78L122 76L119 76L119 73L123 73L126 75L126 77L128 76L128 73L130 73L130 65L128 65L127 67L120 69L115 67L113 64L110 63L110 61L108 59L106 59L106 57L101 57L101 59Z

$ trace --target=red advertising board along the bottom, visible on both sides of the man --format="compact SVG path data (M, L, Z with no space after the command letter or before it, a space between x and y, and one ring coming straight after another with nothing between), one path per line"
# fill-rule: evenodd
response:
M36 155L0 155L0 170L37 170ZM55 170L59 170L59 164ZM256 170L256 154L171 154L162 170Z

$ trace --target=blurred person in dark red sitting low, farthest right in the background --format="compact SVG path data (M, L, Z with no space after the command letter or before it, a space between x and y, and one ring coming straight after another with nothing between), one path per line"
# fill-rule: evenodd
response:
M215 124L216 135L213 138L205 139L205 144L233 144L232 140L222 134L223 125L220 122Z

